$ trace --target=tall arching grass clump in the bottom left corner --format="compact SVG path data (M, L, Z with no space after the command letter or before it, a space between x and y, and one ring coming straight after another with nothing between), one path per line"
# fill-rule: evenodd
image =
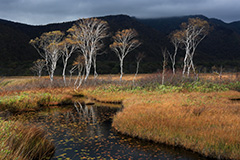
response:
M51 159L55 147L38 127L0 119L0 159Z

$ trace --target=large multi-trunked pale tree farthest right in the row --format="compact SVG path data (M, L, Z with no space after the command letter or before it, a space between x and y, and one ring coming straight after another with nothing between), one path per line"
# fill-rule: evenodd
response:
M210 29L207 21L199 18L189 18L188 23L181 24L181 30L174 34L174 37L183 44L186 51L184 57L183 76L187 69L187 75L192 68L195 74L193 56L199 43L206 37Z

